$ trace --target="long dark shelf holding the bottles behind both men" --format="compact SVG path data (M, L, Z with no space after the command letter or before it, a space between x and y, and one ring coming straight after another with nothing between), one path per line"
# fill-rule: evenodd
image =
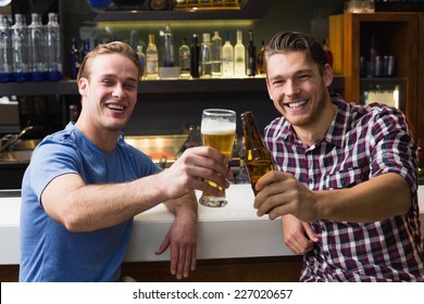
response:
M344 77L335 76L334 90L342 90ZM265 78L199 78L141 80L138 93L196 93L266 91ZM1 96L73 96L78 94L75 80L0 84Z

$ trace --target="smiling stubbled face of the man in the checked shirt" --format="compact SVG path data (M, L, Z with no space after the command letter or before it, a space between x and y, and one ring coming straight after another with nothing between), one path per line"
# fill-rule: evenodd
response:
M286 51L267 58L266 86L277 111L297 131L327 129L334 117L327 86L333 74L328 65L307 60L303 51Z

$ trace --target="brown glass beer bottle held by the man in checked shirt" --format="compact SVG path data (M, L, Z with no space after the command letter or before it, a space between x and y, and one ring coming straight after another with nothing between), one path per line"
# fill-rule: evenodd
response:
M250 183L254 195L258 194L255 185L267 172L274 169L271 152L265 148L262 137L254 123L252 112L241 114L242 131L245 136L246 155L245 162L249 173Z

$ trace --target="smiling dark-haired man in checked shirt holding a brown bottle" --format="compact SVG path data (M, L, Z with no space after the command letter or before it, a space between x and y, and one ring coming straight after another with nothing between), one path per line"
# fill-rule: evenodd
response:
M282 216L303 254L301 281L424 281L416 145L403 114L332 97L322 47L279 33L265 51L270 98L282 114L265 128L275 170L257 189L258 215Z

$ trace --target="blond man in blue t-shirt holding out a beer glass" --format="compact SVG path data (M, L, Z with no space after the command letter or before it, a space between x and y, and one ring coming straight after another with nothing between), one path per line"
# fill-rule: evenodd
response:
M171 246L171 273L196 268L194 190L221 194L230 172L219 151L198 147L166 169L126 144L121 130L137 102L140 64L123 42L100 45L79 68L78 121L48 136L25 173L21 281L117 281L133 217L162 202L175 221L157 253Z

